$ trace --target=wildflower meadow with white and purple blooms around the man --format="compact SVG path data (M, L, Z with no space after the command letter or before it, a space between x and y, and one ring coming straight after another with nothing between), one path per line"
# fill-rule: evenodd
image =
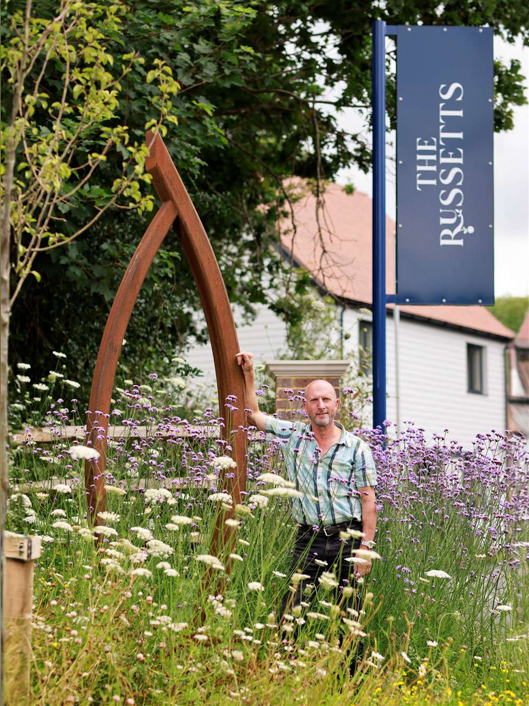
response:
M425 438L411 424L357 430L378 467L373 568L349 587L362 608L342 609L329 567L280 623L282 596L302 575L290 573L296 491L278 443L234 431L249 444L244 501L233 506L218 410L182 419L168 381L125 381L110 421L125 432L108 440L106 510L92 525L84 460L94 450L65 438L85 421L81 390L66 370L32 383L28 368L11 406L13 427L27 431L10 452L6 530L43 542L32 704L529 702L525 440L490 431L463 449L447 431ZM52 443L32 438L37 422ZM213 556L219 515L232 542ZM351 676L347 652L359 641Z

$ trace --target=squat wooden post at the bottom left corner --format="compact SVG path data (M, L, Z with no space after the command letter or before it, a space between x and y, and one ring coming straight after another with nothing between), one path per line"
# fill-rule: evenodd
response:
M6 704L30 703L33 561L40 556L40 537L4 537L4 674Z

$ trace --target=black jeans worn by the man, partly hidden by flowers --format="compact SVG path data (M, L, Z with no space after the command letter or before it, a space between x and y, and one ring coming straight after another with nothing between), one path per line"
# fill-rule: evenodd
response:
M362 530L361 522L351 522L349 527L354 530ZM299 571L309 575L310 578L299 581L296 585L296 592L287 591L282 599L281 606L281 620L283 621L283 616L285 613L292 613L292 608L294 606L299 606L302 601L310 603L313 600L314 594L316 592L317 597L321 599L330 599L332 601L332 596L334 592L338 592L338 599L341 599L342 589L346 586L350 586L354 589L351 596L347 596L342 602L342 611L345 611L347 618L356 620L354 615L347 612L347 608L351 608L355 611L360 611L362 607L361 600L361 585L356 582L355 578L355 565L349 561L345 561L351 555L352 549L358 549L360 546L360 539L348 539L347 543L341 539L340 534L333 534L330 537L325 537L323 530L320 532L313 532L309 530L308 532L299 528L296 537L296 544L294 545L294 553L292 554L292 565L291 573ZM326 566L321 566L316 563L318 561L327 562ZM332 591L323 589L318 582L318 578L323 574L323 572L329 571L335 574L336 579L339 583L339 587ZM306 595L306 588L308 585L313 584L315 586L315 592L312 592L309 596ZM331 597L331 598L329 598ZM316 604L316 611L323 612L321 607ZM304 609L301 613L306 611ZM294 638L296 636L297 630L295 629L294 623ZM347 628L345 626L344 632L347 633ZM340 635L340 644L342 644L343 633ZM355 653L348 654L351 659L350 671L351 674L354 673L356 669L356 662L359 662L363 656L363 643L360 641Z

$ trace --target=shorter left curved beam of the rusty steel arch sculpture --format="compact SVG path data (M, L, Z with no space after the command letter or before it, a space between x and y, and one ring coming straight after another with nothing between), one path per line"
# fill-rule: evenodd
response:
M108 417L123 338L139 289L142 287L154 256L175 218L175 205L171 201L166 201L154 216L144 237L139 241L125 275L123 275L99 346L90 390L86 443L98 450L101 456L97 462L85 462L89 513L96 522L97 513L104 510L105 506L104 471L106 469Z

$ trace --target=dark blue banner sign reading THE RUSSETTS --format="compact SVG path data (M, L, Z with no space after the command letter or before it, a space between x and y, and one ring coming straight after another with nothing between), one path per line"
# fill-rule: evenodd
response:
M494 304L493 30L395 29L397 302Z

